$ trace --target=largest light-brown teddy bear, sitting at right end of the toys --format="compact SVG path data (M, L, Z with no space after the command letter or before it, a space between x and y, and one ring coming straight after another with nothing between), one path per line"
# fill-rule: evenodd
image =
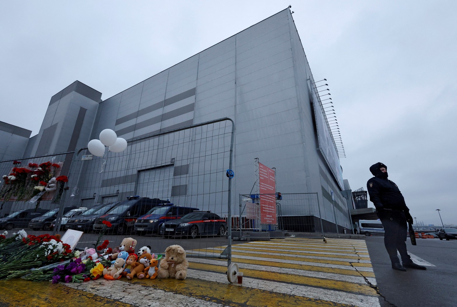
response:
M170 245L165 249L165 258L160 260L157 276L184 280L187 277L188 267L189 263L184 248L179 245Z

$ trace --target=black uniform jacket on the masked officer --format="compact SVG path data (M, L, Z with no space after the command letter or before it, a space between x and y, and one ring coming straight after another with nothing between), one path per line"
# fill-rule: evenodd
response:
M367 182L370 200L377 210L394 209L409 212L397 185L388 179L373 177Z

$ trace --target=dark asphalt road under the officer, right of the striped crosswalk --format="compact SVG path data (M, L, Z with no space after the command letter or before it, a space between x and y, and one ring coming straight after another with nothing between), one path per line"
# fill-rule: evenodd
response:
M367 237L367 248L376 275L382 307L457 306L457 241L417 239L406 242L408 252L433 264L427 270L391 268L383 236Z

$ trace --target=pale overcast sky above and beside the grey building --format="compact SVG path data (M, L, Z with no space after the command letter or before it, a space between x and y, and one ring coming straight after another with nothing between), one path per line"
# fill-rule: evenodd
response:
M1 1L0 121L36 135L73 81L105 100L289 4L335 102L343 178L366 190L383 162L413 217L457 224L454 0Z

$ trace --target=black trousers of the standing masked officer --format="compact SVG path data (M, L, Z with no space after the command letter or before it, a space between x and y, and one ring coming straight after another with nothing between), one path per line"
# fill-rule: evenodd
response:
M406 218L403 212L393 215L385 215L379 218L384 227L384 245L389 254L392 264L400 263L397 251L404 264L412 262L406 250L406 233L408 232Z

